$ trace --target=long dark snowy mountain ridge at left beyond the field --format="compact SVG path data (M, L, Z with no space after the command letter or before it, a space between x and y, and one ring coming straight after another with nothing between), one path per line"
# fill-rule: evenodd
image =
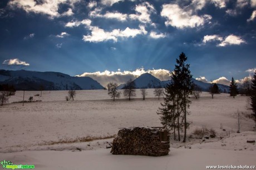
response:
M0 70L0 84L12 84L17 90L89 90L104 89L89 77L76 77L58 72Z

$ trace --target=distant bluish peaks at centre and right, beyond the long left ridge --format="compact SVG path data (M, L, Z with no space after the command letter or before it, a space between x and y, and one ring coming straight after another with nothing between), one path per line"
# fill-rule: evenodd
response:
M202 91L208 91L209 87L211 86L210 83L204 83L203 81L196 80L192 78L192 81L194 84L198 85L201 87ZM149 73L145 73L140 75L138 78L134 80L134 83L136 85L136 89L141 89L142 87L146 88L155 88L155 87L164 87L166 84L170 83L170 80L166 81L161 81L155 76L152 76ZM228 92L229 91L229 86L223 85L223 84L217 84L219 87L220 92ZM119 85L118 89L123 89L125 84Z

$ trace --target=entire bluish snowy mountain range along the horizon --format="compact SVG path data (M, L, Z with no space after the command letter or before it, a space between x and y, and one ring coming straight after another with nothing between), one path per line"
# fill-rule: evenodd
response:
M149 73L140 75L133 80L136 89L164 87L170 80L161 81ZM210 83L204 83L192 79L194 84L201 87L202 91L208 91ZM70 76L58 72L39 72L26 70L0 70L0 84L14 85L16 90L91 90L104 89L104 87L89 77ZM119 85L123 89L125 84ZM229 86L217 84L221 92L228 92Z

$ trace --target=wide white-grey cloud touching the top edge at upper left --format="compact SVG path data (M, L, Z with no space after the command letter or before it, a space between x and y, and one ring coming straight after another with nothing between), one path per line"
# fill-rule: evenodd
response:
M41 0L40 3L34 0L13 0L8 2L8 6L12 9L21 8L27 13L46 14L50 18L55 18L61 16L61 14L58 13L58 6L60 4L69 4L73 7L77 2L80 2L80 0ZM64 14L71 15L71 12L72 11L68 9Z

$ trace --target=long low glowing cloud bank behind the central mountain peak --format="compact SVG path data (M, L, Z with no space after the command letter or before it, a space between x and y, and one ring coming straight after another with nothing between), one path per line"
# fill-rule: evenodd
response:
M150 73L160 80L170 80L170 71L165 69L157 70L144 70L144 68L136 69L134 71L97 71L95 73L83 73L77 76L89 76L90 78L98 81L101 85L106 86L108 83L124 84L129 79L136 79L141 74Z

